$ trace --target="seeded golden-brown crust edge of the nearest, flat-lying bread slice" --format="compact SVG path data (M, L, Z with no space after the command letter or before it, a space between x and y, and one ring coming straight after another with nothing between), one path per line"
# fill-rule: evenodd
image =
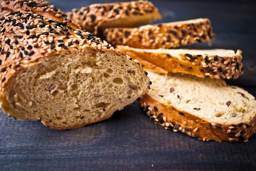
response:
M249 123L223 125L209 123L190 113L180 111L171 104L161 103L148 93L137 102L155 123L174 132L186 133L198 140L247 142L256 130L256 113Z

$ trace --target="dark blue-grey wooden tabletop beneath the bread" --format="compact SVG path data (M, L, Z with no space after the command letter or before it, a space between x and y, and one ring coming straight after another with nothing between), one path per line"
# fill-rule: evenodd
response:
M63 11L114 0L50 0ZM211 48L241 49L244 75L228 84L256 96L256 4L252 1L152 0L158 22L209 18ZM209 48L207 43L192 45ZM220 97L221 98L221 97ZM49 129L0 114L0 170L256 170L256 134L249 142L203 142L154 124L136 103L80 129Z

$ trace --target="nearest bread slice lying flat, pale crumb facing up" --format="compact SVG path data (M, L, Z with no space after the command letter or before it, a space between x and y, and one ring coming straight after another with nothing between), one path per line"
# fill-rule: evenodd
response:
M247 142L256 129L256 100L223 80L148 71L152 85L138 101L165 129L198 140Z

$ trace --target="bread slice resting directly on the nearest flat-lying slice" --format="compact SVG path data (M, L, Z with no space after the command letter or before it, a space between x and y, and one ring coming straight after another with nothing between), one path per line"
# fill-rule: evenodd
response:
M230 79L243 74L242 51L229 49L137 49L117 45L146 70Z

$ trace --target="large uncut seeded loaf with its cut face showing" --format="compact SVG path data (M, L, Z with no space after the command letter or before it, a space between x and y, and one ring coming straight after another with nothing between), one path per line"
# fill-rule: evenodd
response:
M106 41L58 17L45 18L40 8L40 14L37 7L26 12L25 2L5 7L0 101L9 116L74 129L110 118L148 89L143 68Z

